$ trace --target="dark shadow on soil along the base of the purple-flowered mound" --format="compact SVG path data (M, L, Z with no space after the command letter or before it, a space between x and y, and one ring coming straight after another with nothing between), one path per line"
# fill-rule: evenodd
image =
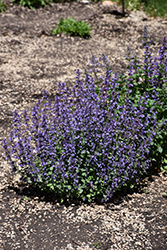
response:
M141 177L139 179L139 182L134 185L133 188L130 187L122 187L119 191L116 191L112 197L112 199L108 200L106 203L102 203L99 201L82 201L81 199L72 199L72 198L66 198L61 203L61 198L57 196L54 192L46 192L40 190L37 186L19 182L17 186L14 186L14 183L12 185L8 186L8 190L13 190L16 192L18 196L21 196L23 199L27 197L27 199L34 199L38 197L38 201L43 202L49 202L52 205L55 205L59 203L61 206L69 207L71 205L80 206L81 204L87 204L87 205L104 205L106 208L109 208L112 205L120 205L124 201L129 201L132 199L131 195L134 193L142 194L145 192L145 188L149 185L149 183L154 181L153 176L159 176L159 173L156 169L152 169L149 174Z

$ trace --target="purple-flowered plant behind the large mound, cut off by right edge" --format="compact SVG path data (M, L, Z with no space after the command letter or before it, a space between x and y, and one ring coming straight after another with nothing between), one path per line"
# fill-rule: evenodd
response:
M162 164L167 159L167 40L163 38L159 49L159 56L152 57L150 52L147 28L144 29L144 60L140 62L136 56L128 53L127 59L131 62L126 77L129 88L129 98L135 103L143 93L148 95L147 112L154 107L157 111L157 126L151 146L152 162L164 171ZM122 82L123 85L123 82Z

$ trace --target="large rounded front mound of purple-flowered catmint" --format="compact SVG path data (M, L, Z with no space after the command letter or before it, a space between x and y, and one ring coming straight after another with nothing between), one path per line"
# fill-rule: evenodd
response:
M97 93L94 79L81 81L78 70L72 91L58 84L54 103L44 91L31 114L15 110L10 142L3 140L13 171L61 201L106 202L138 182L149 168L156 115L147 112L148 95L135 107L128 97L121 105L117 88L107 71Z

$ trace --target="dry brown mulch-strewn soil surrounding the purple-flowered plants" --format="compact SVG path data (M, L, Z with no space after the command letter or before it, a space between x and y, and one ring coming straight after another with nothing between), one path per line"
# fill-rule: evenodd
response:
M120 11L106 13L101 3L57 3L38 10L8 4L0 14L0 141L11 129L14 109L30 109L44 89L54 97L59 81L72 87L76 69L89 68L93 54L106 54L114 72L125 71L127 45L142 59L144 26L157 52L167 20L142 11L122 17L113 10ZM51 36L68 16L91 24L91 37ZM141 192L105 206L59 205L39 190L19 186L0 152L0 249L167 249L162 195L167 178L161 173L145 180Z

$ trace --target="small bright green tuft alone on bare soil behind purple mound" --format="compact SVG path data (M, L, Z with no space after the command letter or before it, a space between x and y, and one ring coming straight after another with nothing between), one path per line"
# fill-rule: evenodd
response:
M58 27L52 30L52 35L68 33L72 36L81 36L88 38L90 36L91 27L84 21L76 21L74 18L61 18Z

